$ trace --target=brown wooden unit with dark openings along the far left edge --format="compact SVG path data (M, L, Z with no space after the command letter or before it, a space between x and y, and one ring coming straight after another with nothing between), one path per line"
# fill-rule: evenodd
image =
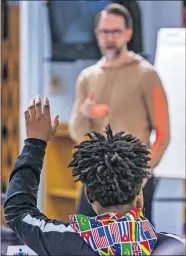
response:
M19 153L19 6L2 1L1 199ZM4 225L3 208L1 221Z

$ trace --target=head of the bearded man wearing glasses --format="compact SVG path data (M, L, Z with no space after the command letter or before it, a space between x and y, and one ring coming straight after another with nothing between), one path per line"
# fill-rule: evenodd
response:
M110 4L98 14L95 32L100 49L109 60L114 60L127 47L132 37L133 21L128 10Z

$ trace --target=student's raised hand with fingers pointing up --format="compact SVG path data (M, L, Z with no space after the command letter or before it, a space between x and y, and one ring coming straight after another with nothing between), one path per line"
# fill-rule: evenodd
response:
M56 133L59 125L59 116L55 116L51 121L50 104L47 98L44 100L43 110L40 97L31 99L30 106L24 114L28 138L35 138L48 142Z

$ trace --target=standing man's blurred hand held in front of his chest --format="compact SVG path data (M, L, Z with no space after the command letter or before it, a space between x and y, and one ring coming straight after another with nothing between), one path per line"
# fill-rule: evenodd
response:
M81 113L88 118L104 118L109 111L106 104L96 104L92 97L87 98L81 106Z

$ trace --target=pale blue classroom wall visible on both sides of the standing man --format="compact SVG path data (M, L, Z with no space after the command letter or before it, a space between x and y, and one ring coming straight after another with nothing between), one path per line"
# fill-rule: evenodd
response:
M181 1L140 1L143 13L145 53L153 62L157 31L161 27L180 27L182 17ZM169 10L168 10L169 9ZM58 113L60 120L70 118L74 100L75 80L79 72L93 61L73 63L50 63L50 33L47 10L44 1L20 1L21 10L21 115L29 98L37 94L47 95L51 101L52 114ZM49 80L57 76L61 81L61 92L52 92ZM25 138L24 118L21 118L21 145ZM174 190L170 191L170 188ZM180 180L161 180L156 197L169 195L181 197ZM43 209L43 185L41 183L39 202ZM154 202L157 230L182 234L182 203ZM168 214L167 214L168 213ZM166 215L167 214L167 215Z

